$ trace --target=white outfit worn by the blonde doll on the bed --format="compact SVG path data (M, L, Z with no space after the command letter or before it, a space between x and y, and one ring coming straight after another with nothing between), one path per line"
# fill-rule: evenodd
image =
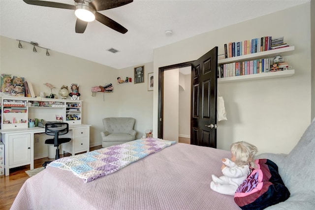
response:
M250 166L237 166L234 162L225 158L223 164L225 167L222 170L222 176L217 177L212 175L212 182L210 187L212 190L225 194L234 195L238 186L247 178L250 173Z

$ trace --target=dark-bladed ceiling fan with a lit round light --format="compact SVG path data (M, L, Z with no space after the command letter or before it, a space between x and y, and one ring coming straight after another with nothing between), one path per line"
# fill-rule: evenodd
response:
M115 31L122 34L125 34L128 31L125 27L97 11L123 6L131 3L133 0L74 0L74 5L45 0L23 1L25 3L37 6L75 10L74 13L77 17L77 21L75 24L76 33L84 33L85 29L87 28L88 22L94 21L96 19L98 22L104 24L105 26L108 26L109 28L114 29Z

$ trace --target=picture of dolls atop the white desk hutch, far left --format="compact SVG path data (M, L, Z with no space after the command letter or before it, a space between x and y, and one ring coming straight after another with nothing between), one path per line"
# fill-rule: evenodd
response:
M1 74L1 96L25 96L24 77Z

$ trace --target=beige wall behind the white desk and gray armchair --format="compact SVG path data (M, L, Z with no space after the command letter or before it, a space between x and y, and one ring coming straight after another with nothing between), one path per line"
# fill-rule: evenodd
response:
M37 53L32 52L32 45L23 44L18 48L15 39L0 36L0 73L8 73L25 77L32 82L34 92L49 93L43 83L49 82L57 88L53 93L57 94L60 87L78 83L83 100L82 123L91 124L90 145L100 145L100 132L103 130L102 118L104 117L134 117L136 119L135 130L137 138L141 138L145 130L152 129L152 102L153 91L148 91L147 77L153 72L153 63L145 66L145 83L117 84L117 77L132 77L133 68L117 70L101 64L90 62L77 57L65 55L50 50L50 56L46 51L37 48ZM139 65L140 66L140 65ZM91 87L112 83L113 93L96 93L92 97Z

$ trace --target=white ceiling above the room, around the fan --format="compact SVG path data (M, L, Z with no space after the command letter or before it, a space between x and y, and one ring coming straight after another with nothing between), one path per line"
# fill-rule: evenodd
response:
M74 4L73 0L52 1ZM97 21L89 23L84 34L76 34L73 10L0 0L0 35L38 42L51 49L51 56L58 51L122 69L152 62L155 48L309 1L134 0L100 11L128 29L126 34ZM166 35L166 30L173 35ZM113 54L109 48L119 52Z

